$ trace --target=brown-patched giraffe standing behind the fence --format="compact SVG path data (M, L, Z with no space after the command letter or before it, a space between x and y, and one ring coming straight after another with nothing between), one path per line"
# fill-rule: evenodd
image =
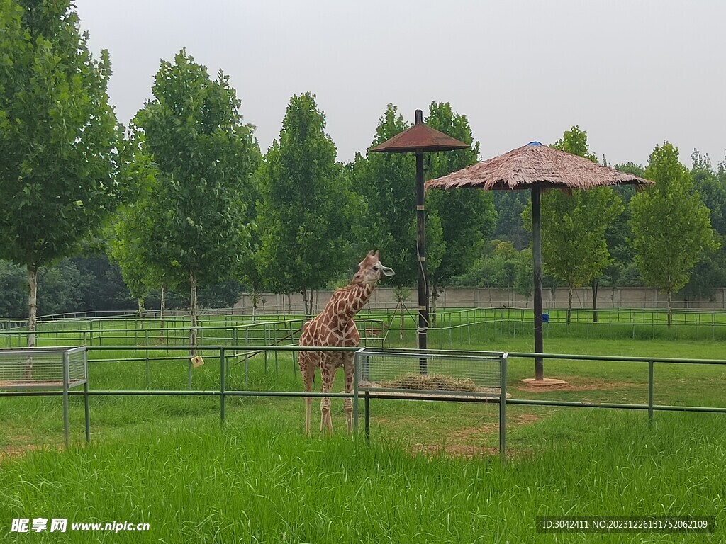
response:
M351 284L342 289L336 289L333 297L317 316L303 325L300 335L301 346L335 346L358 347L360 334L353 321L367 302L380 275L393 276L395 272L384 266L378 260L378 251L368 252L368 255L359 263L358 271ZM315 368L320 368L322 386L320 392L328 393L333 387L335 373L341 366L346 376L346 392L353 390L354 354L351 352L335 351L301 351L298 355L298 364L303 376L305 391L313 390ZM348 432L353 432L353 401L346 398L343 403L346 411L346 424ZM310 436L310 416L312 398L305 399L305 434ZM325 429L333 434L333 420L330 418L330 397L323 397L320 402L320 432Z

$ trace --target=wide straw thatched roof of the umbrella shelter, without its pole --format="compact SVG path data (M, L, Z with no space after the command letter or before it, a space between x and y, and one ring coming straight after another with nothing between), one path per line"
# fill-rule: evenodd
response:
M447 176L427 181L426 189L473 187L513 191L531 189L534 185L544 188L592 189L621 184L648 185L653 184L653 181L533 142Z

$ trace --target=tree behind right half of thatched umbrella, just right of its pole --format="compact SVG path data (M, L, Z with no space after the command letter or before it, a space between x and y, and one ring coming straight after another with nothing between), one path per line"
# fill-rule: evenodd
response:
M597 162L587 144L587 132L578 126L565 131L552 147ZM592 288L593 321L597 321L598 280L612 262L605 232L622 208L621 199L609 187L542 195L543 268L568 287L568 323L573 291L587 284Z

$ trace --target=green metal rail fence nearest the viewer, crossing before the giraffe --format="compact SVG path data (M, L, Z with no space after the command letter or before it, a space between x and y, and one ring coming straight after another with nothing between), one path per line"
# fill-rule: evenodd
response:
M359 348L351 347L299 347L299 346L252 346L252 345L197 345L192 346L194 349L200 352L215 352L216 358L219 363L219 388L206 389L206 390L92 390L88 389L83 392L74 391L41 391L41 390L3 390L0 387L0 397L36 397L36 396L57 396L57 395L169 395L169 396L205 396L205 397L219 397L219 416L221 423L224 423L226 418L226 402L229 397L331 397L331 398L351 398L354 400L356 406L355 414L356 419L359 412L359 398L364 397L364 421L366 425L366 436L369 434L369 421L370 421L370 399L371 398L396 398L391 397L386 392L376 392L370 387L366 390L364 388L356 387L354 392L351 393L308 393L299 391L272 391L272 390L230 390L227 387L227 379L229 376L229 359L227 354L234 350L259 350L259 351L270 351L270 352L298 352L301 350L309 351L354 351L359 352L359 356L368 355L366 348L359 350ZM136 346L137 350L176 350L184 351L188 350L189 346L159 346L159 345L148 345L148 346ZM129 346L89 346L86 348L88 351L123 351L129 350ZM1 352L2 350L0 350ZM391 353L392 350L385 350ZM455 355L455 352L448 350L448 355ZM461 352L470 353L470 352ZM491 354L489 354L491 355ZM445 355L439 350L424 350L423 352L417 353L417 357L432 356L432 357L444 357ZM525 398L507 398L506 397L506 386L507 386L507 357L508 358L526 358L533 359L541 357L544 359L565 359L565 360L582 360L582 361L617 361L617 362L632 362L647 364L648 366L648 402L647 403L608 403L608 402L579 402L579 401L566 401L566 400L537 400L537 399L525 399ZM208 357L208 359L211 359ZM502 366L500 367L501 385L499 392L496 395L441 395L436 392L421 392L413 391L409 392L404 400L436 400L446 402L457 402L457 403L499 403L500 413L505 413L505 405L533 405L533 406L560 406L560 407L571 407L571 408L613 408L613 409L626 409L626 410L640 410L647 411L649 421L653 420L653 414L656 411L680 411L680 412L701 412L701 413L726 413L726 408L718 406L692 406L692 405L657 405L654 400L655 390L655 378L654 378L654 367L658 364L686 364L686 365L726 365L726 360L710 360L710 359L695 359L695 358L658 358L658 357L627 357L627 356L610 356L610 355L572 355L572 354L547 354L547 353L508 353L505 357L500 357ZM359 376L360 377L360 376ZM358 381L356 380L356 384ZM361 390L363 392L361 393ZM403 397L399 397L403 398ZM504 416L501 416L501 423L499 426L500 435L500 448L499 455L502 458L502 462L505 459L505 436L506 436L506 420Z

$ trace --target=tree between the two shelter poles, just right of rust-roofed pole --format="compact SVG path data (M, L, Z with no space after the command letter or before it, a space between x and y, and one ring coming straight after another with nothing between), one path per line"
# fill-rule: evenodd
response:
M470 149L428 154L428 178L435 179L473 165L479 154L469 120L452 110L449 102L432 102L426 124L437 131L470 144ZM441 221L441 262L428 269L433 300L432 322L436 323L436 299L454 276L464 273L481 255L484 239L494 232L496 212L491 192L480 190L428 191L427 210ZM431 246L431 244L428 244ZM427 258L428 260L428 258Z

